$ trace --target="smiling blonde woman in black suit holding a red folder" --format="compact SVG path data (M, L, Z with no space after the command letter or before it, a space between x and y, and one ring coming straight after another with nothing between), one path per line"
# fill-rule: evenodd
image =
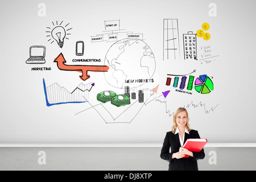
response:
M189 126L188 111L179 107L174 113L172 131L166 133L160 154L162 159L169 162L169 171L198 171L197 160L204 159L204 148L200 152L191 152L181 148L188 138L200 137L199 133ZM189 155L189 158L183 158L185 154Z

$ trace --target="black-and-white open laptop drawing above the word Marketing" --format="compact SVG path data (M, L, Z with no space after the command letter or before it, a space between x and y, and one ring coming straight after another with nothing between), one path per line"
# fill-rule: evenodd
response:
M44 46L31 46L30 58L26 61L27 64L44 64L46 60L46 47Z

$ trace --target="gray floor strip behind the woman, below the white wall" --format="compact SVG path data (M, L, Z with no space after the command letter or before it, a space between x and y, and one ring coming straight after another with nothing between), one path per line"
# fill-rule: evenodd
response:
M0 170L166 171L159 147L0 147ZM206 147L199 170L256 170L256 148ZM39 151L46 164L39 165ZM216 159L216 160L215 160Z

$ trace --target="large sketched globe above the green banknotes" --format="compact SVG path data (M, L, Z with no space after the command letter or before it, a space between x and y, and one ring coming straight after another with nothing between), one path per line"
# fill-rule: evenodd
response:
M115 88L135 88L151 81L155 73L155 56L140 39L122 39L115 42L105 56L109 66L104 76Z

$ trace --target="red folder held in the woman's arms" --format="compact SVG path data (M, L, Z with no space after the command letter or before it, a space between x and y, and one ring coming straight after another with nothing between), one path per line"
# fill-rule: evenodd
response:
M205 138L188 138L182 148L187 148L191 152L200 152L207 143ZM189 155L185 155L183 158L189 158Z

